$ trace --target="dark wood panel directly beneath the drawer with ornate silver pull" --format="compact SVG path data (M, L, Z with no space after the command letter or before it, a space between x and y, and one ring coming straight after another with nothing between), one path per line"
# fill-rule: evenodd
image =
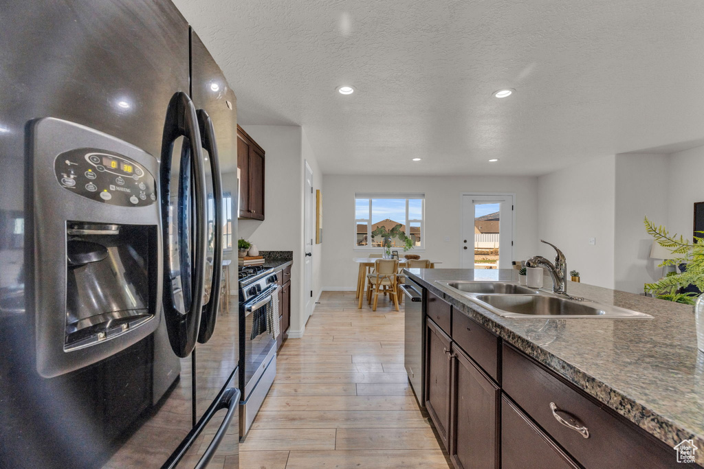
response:
M501 397L501 467L503 469L577 469L565 451L505 395Z

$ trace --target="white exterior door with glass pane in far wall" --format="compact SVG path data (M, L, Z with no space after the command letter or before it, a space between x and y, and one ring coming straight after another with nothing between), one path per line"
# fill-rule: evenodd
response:
M463 269L510 269L513 261L513 195L462 197Z

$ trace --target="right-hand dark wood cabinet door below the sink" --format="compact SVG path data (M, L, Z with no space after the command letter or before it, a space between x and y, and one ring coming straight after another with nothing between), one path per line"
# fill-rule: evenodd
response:
M458 469L498 468L501 390L453 345L450 458Z

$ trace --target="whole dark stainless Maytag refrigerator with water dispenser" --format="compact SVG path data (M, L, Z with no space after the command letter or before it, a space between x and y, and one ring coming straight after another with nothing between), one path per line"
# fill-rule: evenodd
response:
M237 468L234 92L170 1L2 10L0 467Z

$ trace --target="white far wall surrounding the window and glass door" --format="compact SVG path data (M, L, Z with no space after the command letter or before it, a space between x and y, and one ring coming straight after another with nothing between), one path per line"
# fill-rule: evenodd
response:
M355 192L425 193L425 252L414 249L413 253L443 262L440 268L459 268L461 194L515 193L513 257L527 259L537 249L537 182L536 177L325 174L322 181L322 289L353 290L358 267L352 258L368 255L368 252L354 249ZM446 236L449 241L445 241Z

